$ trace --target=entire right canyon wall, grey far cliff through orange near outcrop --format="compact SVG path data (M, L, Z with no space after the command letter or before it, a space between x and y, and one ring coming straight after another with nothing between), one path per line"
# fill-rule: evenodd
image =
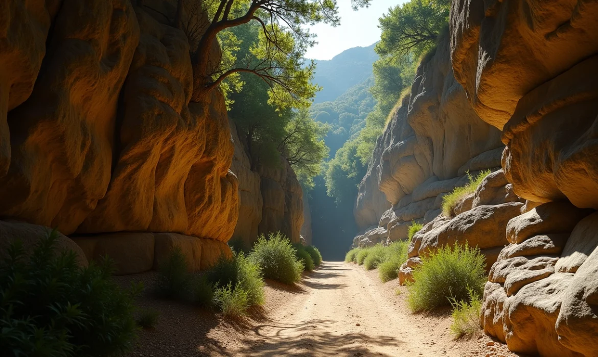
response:
M377 141L353 244L423 223L401 283L438 247L477 246L487 334L530 355L598 355L597 103L598 2L454 0L448 35ZM440 213L466 170L486 168Z

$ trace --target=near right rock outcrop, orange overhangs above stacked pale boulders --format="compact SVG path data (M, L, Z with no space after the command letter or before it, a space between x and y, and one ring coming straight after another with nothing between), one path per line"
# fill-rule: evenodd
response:
M516 352L598 354L597 29L595 1L451 5L455 77L502 130L505 177L528 200L482 307L484 331Z

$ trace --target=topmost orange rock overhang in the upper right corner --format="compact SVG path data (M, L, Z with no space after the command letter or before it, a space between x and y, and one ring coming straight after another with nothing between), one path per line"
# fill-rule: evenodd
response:
M597 53L597 15L585 0L453 1L454 76L480 118L502 130L521 97Z

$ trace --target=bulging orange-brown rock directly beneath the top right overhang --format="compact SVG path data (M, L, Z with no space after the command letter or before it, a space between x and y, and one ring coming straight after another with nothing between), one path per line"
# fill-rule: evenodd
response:
M596 100L598 56L521 98L503 133L503 167L517 195L598 208Z

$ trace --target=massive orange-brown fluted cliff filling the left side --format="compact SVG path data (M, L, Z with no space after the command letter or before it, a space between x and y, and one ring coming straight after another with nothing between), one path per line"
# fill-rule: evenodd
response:
M175 245L200 269L230 254L239 212L224 99L190 101L186 36L135 4L0 5L0 215L57 227L120 273Z

